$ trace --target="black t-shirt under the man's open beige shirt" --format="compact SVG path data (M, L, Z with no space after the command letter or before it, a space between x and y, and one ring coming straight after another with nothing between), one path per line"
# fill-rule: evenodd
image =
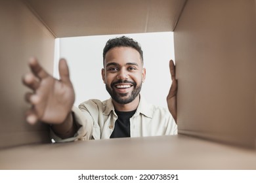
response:
M115 110L115 112L118 118L115 122L114 131L110 135L110 138L131 137L130 118L135 114L136 110L129 112Z

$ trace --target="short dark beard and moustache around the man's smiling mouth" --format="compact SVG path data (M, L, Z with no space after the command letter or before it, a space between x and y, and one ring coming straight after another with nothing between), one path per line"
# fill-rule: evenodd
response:
M133 84L133 91L131 92L131 94L129 93L117 93L114 90L114 86L116 84L121 84L121 83L130 83ZM135 82L131 82L128 80L119 80L117 82L114 82L110 85L110 87L106 84L106 90L108 91L108 93L110 93L110 96L112 97L112 99L114 99L114 101L116 101L119 104L127 104L127 103L131 103L140 93L140 90L142 88L142 83L137 87L137 84Z

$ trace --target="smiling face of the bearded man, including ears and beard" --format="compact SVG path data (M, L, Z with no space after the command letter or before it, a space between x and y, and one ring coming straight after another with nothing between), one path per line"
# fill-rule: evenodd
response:
M140 54L134 48L116 47L106 53L102 79L117 103L131 103L140 93L145 77Z

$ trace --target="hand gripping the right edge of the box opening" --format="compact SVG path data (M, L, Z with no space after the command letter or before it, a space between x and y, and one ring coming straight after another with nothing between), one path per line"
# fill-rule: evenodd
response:
M175 76L175 65L173 60L169 62L170 72L171 72L171 88L169 94L167 95L167 105L171 115L173 116L176 124L177 124L177 90L178 90L178 82Z

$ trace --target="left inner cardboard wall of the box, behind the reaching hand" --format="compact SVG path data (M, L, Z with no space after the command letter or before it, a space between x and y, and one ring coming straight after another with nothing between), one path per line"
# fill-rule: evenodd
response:
M49 142L49 127L28 125L22 75L37 56L53 72L54 37L20 1L0 1L0 148Z

